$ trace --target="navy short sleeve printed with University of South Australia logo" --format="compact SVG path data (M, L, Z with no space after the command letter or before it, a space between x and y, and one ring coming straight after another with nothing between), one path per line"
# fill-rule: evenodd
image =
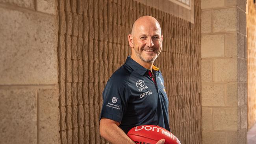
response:
M109 80L102 94L103 103L100 113L102 117L121 122L128 105L129 92L124 82Z

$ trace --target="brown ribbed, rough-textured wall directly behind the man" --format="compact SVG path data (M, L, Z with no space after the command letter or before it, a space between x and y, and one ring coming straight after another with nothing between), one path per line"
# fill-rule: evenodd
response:
M61 144L104 144L99 134L102 91L130 54L127 36L143 15L163 29L156 61L165 78L170 126L184 144L200 144L200 0L195 24L134 0L58 0Z

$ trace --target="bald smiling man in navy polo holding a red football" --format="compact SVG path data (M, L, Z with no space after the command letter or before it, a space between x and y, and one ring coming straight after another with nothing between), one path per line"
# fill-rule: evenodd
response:
M162 49L160 24L151 16L138 18L128 41L132 55L114 72L103 92L100 135L112 144L134 144L126 133L139 125L170 131L163 77L153 65Z

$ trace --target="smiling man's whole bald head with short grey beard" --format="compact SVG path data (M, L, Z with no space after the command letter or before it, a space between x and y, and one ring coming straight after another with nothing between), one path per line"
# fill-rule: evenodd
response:
M128 40L135 61L154 63L161 52L163 40L158 21L150 16L139 18L134 23Z

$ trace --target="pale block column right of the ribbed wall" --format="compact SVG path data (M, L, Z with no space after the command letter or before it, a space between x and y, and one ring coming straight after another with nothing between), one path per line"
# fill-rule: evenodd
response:
M246 0L201 0L203 144L247 143Z

